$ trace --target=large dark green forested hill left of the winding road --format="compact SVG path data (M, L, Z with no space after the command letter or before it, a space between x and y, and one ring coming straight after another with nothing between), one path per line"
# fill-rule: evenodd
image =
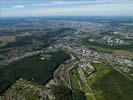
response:
M54 70L70 58L64 51L49 54L51 57L47 60L41 60L40 55L34 55L0 68L0 93L20 77L45 84L53 77Z

